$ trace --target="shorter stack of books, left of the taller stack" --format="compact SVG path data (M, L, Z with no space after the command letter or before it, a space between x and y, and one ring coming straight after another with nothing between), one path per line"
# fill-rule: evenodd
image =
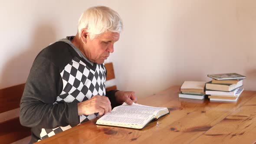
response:
M179 98L204 99L205 82L185 81L181 85Z

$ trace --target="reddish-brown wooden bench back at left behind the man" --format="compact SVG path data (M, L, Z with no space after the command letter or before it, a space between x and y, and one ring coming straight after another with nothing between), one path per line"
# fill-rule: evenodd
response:
M0 89L0 115L5 120L0 122L0 143L10 144L31 135L30 128L20 124L20 99L25 84ZM8 118L9 119L8 119Z

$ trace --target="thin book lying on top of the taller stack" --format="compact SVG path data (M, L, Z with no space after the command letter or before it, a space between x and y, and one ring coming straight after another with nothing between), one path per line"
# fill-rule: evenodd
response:
M207 75L208 77L216 80L225 80L225 79L246 79L246 76L237 74L237 73L223 73L223 74L212 74Z

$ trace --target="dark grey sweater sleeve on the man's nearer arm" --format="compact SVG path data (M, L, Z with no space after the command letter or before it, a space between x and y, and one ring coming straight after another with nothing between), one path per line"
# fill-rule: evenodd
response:
M59 69L53 62L37 57L20 101L20 123L31 128L79 124L77 102L56 103L62 85Z

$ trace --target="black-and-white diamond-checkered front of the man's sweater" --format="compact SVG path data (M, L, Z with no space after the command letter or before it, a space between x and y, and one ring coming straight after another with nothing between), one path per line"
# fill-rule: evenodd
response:
M90 66L75 57L65 66L60 75L62 77L63 90L53 105L63 102L86 101L94 95L106 94L106 70L104 65L97 64L95 69L91 69ZM94 119L97 116L98 113L92 115L80 115L80 123ZM53 136L69 128L71 128L70 125L54 129L43 128L40 133L40 138L44 139Z

